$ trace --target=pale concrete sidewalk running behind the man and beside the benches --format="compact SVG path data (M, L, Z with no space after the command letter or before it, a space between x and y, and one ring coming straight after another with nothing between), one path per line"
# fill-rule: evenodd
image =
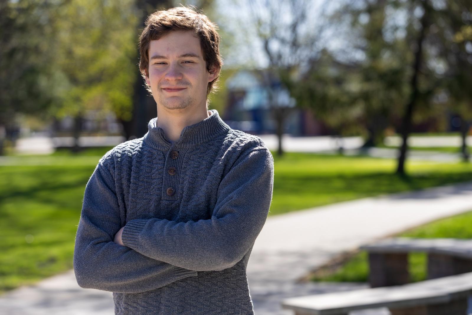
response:
M365 287L299 283L312 269L378 238L472 209L472 182L365 198L270 217L256 240L247 276L256 315L292 314L283 298ZM73 272L0 297L10 315L112 315L111 293L77 286ZM355 312L384 315L385 309Z

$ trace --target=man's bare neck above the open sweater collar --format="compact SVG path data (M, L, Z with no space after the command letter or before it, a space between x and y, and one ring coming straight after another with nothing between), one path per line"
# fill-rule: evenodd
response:
M210 111L206 110L206 106L178 110L169 110L158 106L156 127L162 128L166 138L171 142L175 142L180 138L182 129L210 117L210 114Z

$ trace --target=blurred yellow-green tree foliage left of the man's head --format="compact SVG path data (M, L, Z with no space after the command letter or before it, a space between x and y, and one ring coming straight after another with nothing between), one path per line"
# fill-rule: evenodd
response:
M18 112L130 119L138 16L135 0L2 1L0 124Z

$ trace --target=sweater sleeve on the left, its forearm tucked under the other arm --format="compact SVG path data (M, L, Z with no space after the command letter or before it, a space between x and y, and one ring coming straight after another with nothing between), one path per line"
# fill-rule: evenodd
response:
M113 242L122 227L114 180L99 163L85 188L74 250L82 288L137 293L157 289L195 271L157 261Z

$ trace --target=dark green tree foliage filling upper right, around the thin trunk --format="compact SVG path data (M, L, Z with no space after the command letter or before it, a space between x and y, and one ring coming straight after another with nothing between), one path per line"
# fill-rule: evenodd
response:
M415 95L413 122L448 126L447 109L470 118L472 51L467 25L471 2L349 1L330 16L336 49L312 58L303 80L292 85L298 104L311 108L340 134L365 134L379 145L388 127L400 127L405 105ZM429 21L413 88L414 52L420 12ZM414 90L414 91L413 91ZM448 105L448 106L445 106Z

